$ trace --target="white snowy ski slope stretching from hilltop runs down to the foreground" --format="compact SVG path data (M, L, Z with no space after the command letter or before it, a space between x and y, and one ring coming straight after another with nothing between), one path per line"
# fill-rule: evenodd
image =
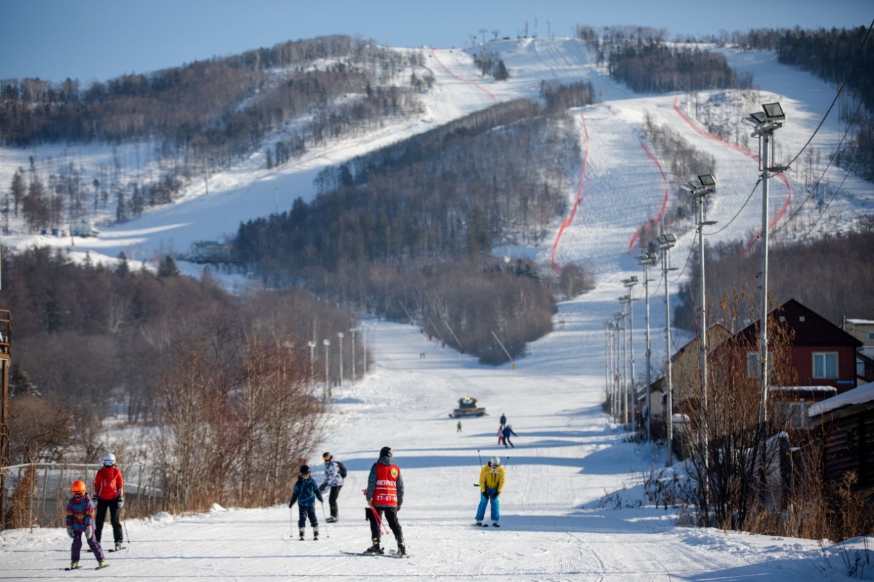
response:
M685 95L635 95L604 76L576 41L538 39L489 46L500 51L512 75L509 81L482 79L464 51L429 49L427 62L436 83L425 96L427 110L420 119L314 151L278 171L267 172L253 158L231 172L211 176L209 195L202 184L195 185L184 202L110 227L99 241L77 239L75 248L91 248L110 257L120 250L128 257L132 250L140 256L161 248L184 250L192 241L232 232L240 220L267 215L277 198L280 208L288 208L297 195L311 198L312 178L324 164L426 131L495 100L536 96L542 80L589 79L605 100L572 111L580 151L587 155L585 171L580 160L572 176L575 187L567 193L569 208L579 195L573 219L558 243L560 218L556 236L542 248L500 252L526 253L547 263L554 252L558 264L585 262L596 271L597 288L560 304L555 331L531 344L515 370L509 365L479 366L473 358L428 343L413 326L379 323L371 344L376 346L376 369L366 380L335 394L333 430L323 443L351 471L341 494L339 524L323 524L323 539L318 542L300 542L289 540L289 533L296 531L296 510L289 514L284 506L131 520L128 550L108 558L113 578L847 579L841 558L827 550L827 561L813 541L676 527L676 514L650 507L642 493L642 476L653 467L661 469L663 457L649 446L625 442L628 433L611 425L600 411L603 322L612 320L619 307L616 297L624 292L621 279L641 275L637 250L629 252L629 244L643 223L659 215L665 194L662 171L669 172L657 156L648 154L643 147L647 144L642 146L644 114L649 112L716 159L719 188L708 218L719 224L711 228L739 216L712 241L746 240L760 227L760 189L744 207L758 177L757 162L748 152L725 146L684 120L680 113L690 115L693 110ZM758 53L730 54L730 58L742 70L755 73L754 82L762 87L761 102L780 100L787 110L787 127L776 134L777 161L787 161L812 134L833 89ZM706 97L702 93L699 100ZM814 144L828 152L841 131L836 122L827 122ZM17 165L26 167L27 154L3 151L3 183L9 183ZM844 173L831 168L828 175L836 185ZM790 192L787 212L803 199L791 173L788 183L791 190L780 181L771 182L772 216L780 212ZM814 209L812 202L805 206ZM870 185L850 176L820 225L843 227L871 208ZM673 262L682 268L693 237L688 231L676 234L680 243ZM5 240L27 244L33 239ZM682 277L685 274L677 271L671 278L675 288ZM639 286L635 288L635 298L641 293ZM652 306L655 361L664 354L658 329L664 319L661 286L658 295ZM640 373L643 305L636 303ZM422 352L427 354L424 359ZM480 399L489 415L462 420L459 434L447 414L458 398L468 394ZM519 434L514 439L517 448L496 448L496 419L502 412ZM406 503L400 519L413 558L343 556L339 550L360 551L369 544L360 491L378 449L385 445L396 450L404 471ZM477 450L483 460L510 455L508 483L501 497L501 529L472 527L478 501L472 487L480 469ZM310 461L319 464L317 457ZM309 529L307 536L311 537ZM391 539L385 545L394 547ZM69 540L61 529L4 532L0 578L56 578L69 559L68 549ZM89 573L89 577L104 578L101 574Z

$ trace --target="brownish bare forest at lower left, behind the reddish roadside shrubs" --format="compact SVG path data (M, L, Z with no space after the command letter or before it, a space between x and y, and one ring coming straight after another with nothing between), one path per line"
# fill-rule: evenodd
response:
M224 346L230 372L222 389L233 392L246 378L237 369L244 348L255 339L278 346L284 359L306 363L309 339L336 340L337 332L356 324L348 310L299 289L230 296L208 275L199 281L180 276L170 257L153 274L130 270L123 257L110 269L75 264L65 251L45 247L4 250L0 300L13 325L11 422L20 429L13 464L59 460L67 444L96 438L107 414L131 422L161 418L166 382L179 366L194 365L185 364L184 353L195 346L211 358ZM355 367L350 347L342 352L347 378ZM303 364L295 373L321 387L323 355L316 357L322 363L313 368L316 378ZM356 357L360 373L366 357L361 346ZM336 353L331 359L330 378L336 380L341 366Z

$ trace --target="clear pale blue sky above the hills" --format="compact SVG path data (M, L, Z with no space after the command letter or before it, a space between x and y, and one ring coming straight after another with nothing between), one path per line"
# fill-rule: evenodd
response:
M871 24L871 0L0 0L0 79L87 82L152 72L287 40L360 35L393 46L570 36L575 24L676 34ZM786 10L780 16L780 10Z

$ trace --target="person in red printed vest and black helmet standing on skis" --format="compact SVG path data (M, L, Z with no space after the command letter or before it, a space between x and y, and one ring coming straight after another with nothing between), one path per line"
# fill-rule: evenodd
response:
M367 477L367 491L364 495L367 496L368 507L364 511L367 521L371 523L373 544L364 551L371 554L385 553L379 545L380 525L385 517L395 541L398 542L398 554L404 556L406 554L404 531L401 530L398 521L398 511L404 503L404 479L400 476L400 469L394 464L392 457L392 448L383 447L379 451L377 462L374 462L371 467L370 476Z

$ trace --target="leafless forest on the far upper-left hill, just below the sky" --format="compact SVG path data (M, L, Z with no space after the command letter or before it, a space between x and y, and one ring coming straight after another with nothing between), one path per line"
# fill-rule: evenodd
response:
M0 143L134 142L137 168L155 166L131 177L119 155L99 168L31 156L0 198L3 228L19 211L31 232L106 209L125 222L260 150L268 134L280 132L265 150L272 168L387 118L420 113L417 95L431 83L423 59L420 51L333 36L88 87L70 79L60 85L0 80ZM302 118L307 121L287 127Z

